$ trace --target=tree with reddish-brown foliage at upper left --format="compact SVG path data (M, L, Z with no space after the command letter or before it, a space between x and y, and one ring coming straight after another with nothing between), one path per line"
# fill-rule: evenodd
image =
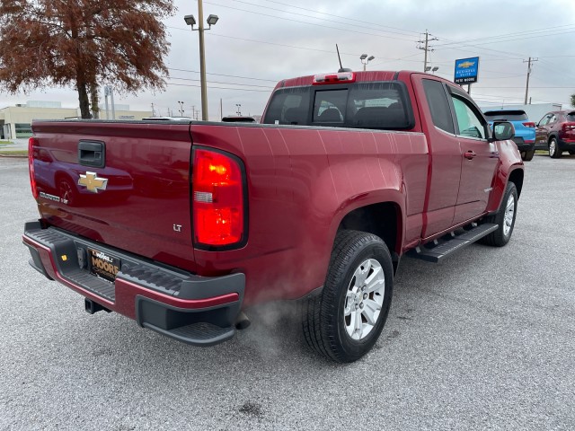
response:
M165 88L172 0L0 0L0 83L16 93L74 86L83 119L99 83Z

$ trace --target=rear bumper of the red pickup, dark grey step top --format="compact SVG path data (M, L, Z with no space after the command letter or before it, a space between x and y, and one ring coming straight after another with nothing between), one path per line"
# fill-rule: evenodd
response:
M32 268L141 327L195 346L234 336L245 286L241 273L199 277L53 227L42 229L39 222L25 224L22 241ZM88 248L120 259L114 282L90 273L83 259Z

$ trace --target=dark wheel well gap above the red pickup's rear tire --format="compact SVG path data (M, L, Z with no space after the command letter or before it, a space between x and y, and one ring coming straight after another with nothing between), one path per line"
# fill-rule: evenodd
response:
M398 224L400 208L392 202L360 207L351 211L341 220L340 229L352 229L355 231L373 233L382 240L392 254L392 259L397 259L398 232L401 225Z

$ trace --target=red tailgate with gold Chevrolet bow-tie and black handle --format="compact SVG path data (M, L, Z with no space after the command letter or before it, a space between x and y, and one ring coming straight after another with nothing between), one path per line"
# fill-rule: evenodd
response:
M38 121L32 130L49 224L194 271L189 123Z

